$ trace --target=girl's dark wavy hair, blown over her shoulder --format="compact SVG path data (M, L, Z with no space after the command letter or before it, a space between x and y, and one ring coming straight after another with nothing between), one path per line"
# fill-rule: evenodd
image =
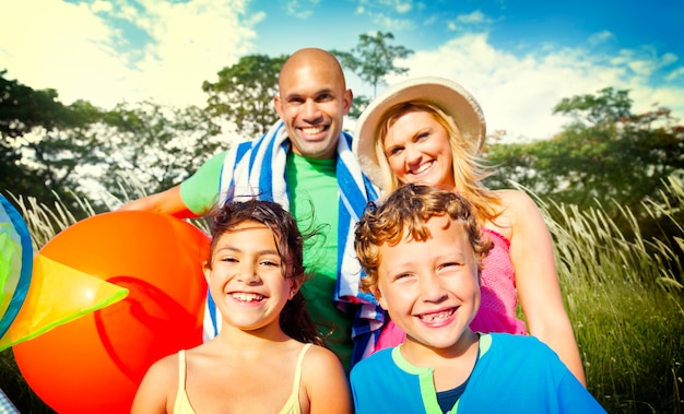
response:
M304 236L297 228L292 214L280 204L257 199L246 201L229 200L216 209L211 215L212 240L209 260L213 256L219 237L231 228L247 221L266 225L273 234L275 247L282 260L282 273L285 279L299 279L304 282ZM280 315L280 326L288 336L304 343L323 345L323 338L306 309L306 300L302 292L285 304Z

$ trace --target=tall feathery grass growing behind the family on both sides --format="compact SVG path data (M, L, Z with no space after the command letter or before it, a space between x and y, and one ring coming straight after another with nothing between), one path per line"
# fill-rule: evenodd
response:
M139 189L133 193L142 196ZM671 180L661 196L647 205L679 233L648 240L627 210L622 214L634 238L625 237L601 208L579 211L538 200L554 237L589 391L610 413L684 412L684 191ZM75 223L63 205L14 200L37 249ZM81 208L93 214L86 202ZM11 350L0 354L0 388L22 413L51 413L23 381Z

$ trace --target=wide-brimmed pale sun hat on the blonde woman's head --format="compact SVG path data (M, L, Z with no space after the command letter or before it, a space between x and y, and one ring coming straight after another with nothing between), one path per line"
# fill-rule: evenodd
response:
M423 76L400 82L364 109L356 122L353 151L366 176L378 187L382 187L382 174L375 153L375 140L379 121L385 113L398 104L421 100L433 104L453 119L461 135L467 141L476 142L479 151L486 135L484 114L477 100L460 84L444 78Z

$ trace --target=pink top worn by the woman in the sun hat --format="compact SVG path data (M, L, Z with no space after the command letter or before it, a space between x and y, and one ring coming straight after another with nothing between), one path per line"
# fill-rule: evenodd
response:
M482 262L480 310L470 323L475 332L508 332L527 335L523 321L516 318L518 296L516 274L510 261L510 241L500 234L483 228L494 247ZM397 346L404 342L406 334L391 320L382 328L376 343L376 351Z

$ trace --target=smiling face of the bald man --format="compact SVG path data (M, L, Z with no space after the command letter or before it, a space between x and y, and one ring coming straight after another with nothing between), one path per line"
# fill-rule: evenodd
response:
M314 60L284 70L274 104L295 154L332 158L352 97L352 91L344 90L342 73L325 62Z

